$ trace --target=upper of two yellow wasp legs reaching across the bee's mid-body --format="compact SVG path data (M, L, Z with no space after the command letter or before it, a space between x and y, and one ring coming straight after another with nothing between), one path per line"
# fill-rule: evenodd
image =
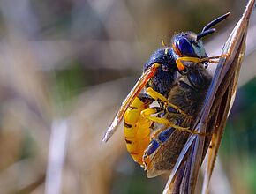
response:
M155 101L161 101L165 108L167 107L171 107L171 108L175 108L179 113L181 113L184 117L187 117L187 118L191 118L192 119L192 116L188 116L186 113L184 113L184 111L180 108L178 108L176 105L170 103L168 101L167 98L165 98L161 93L157 93L155 92L152 87L148 87L147 88L147 94L152 97Z

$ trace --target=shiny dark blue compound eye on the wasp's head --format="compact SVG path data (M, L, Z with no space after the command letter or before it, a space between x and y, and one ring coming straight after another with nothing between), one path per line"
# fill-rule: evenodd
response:
M177 40L176 48L178 48L182 56L196 56L192 44L185 38Z

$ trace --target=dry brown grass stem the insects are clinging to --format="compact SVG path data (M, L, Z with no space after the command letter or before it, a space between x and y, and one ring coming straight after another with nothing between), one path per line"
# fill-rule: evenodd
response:
M207 193L216 154L230 111L230 102L237 90L237 78L242 58L245 54L245 38L253 4L255 4L255 0L249 1L243 17L238 21L237 26L235 26L222 49L222 54L228 53L230 56L220 59L215 76L207 92L206 100L193 128L200 132L205 132L207 129L213 131L212 148L208 154L203 193ZM177 164L169 176L169 181L163 193L195 192L200 164L204 156L205 142L206 137L199 135L191 135L188 138L177 160Z

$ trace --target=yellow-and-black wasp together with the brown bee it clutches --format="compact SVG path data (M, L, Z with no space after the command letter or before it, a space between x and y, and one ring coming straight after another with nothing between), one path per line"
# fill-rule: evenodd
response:
M176 34L170 46L163 44L157 49L106 131L102 139L105 142L124 118L127 150L147 170L148 177L169 172L175 166L190 134L207 138L206 153L212 131L200 132L192 126L212 80L207 65L227 55L207 56L201 39L215 33L212 27L229 15L211 21L200 34Z

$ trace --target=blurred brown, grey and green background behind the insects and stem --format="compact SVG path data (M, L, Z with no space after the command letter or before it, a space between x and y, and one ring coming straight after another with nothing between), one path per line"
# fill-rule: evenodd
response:
M104 131L161 41L199 33L221 53L245 0L1 0L0 193L161 193ZM254 11L255 12L255 11ZM212 193L256 193L256 15Z

